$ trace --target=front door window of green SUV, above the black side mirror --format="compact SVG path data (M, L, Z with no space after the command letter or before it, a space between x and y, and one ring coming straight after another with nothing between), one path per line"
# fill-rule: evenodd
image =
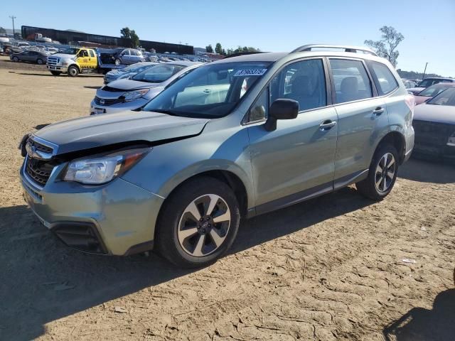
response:
M326 77L321 59L287 65L270 86L270 104L279 98L294 99L299 102L299 112L327 105Z

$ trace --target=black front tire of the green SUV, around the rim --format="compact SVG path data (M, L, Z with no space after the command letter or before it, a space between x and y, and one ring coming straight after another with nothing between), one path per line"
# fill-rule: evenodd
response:
M210 195L210 197L209 197ZM217 198L218 197L218 198ZM203 210L210 207L210 201L215 198L216 206L212 212L213 218L204 215ZM196 203L198 213L202 216L200 220L193 219L193 215L188 211L188 207L192 203ZM207 201L208 200L208 201ZM214 201L214 202L215 202ZM212 213L210 212L210 213ZM190 213L188 215L188 213ZM218 217L228 217L230 215L230 222L215 222ZM189 220L188 220L189 218ZM205 219L210 220L205 222ZM215 219L215 220L212 220ZM188 221L191 221L190 228L187 227ZM185 222L185 223L184 223ZM213 226L210 225L211 222ZM160 212L159 219L156 225L156 238L155 249L162 256L164 256L171 263L176 264L182 268L196 268L200 266L207 266L216 261L220 256L225 254L226 251L234 242L235 236L240 224L240 210L237 199L228 185L210 177L195 178L188 180L187 183L181 185L174 191L164 202L164 208ZM210 227L211 226L211 227ZM207 230L205 230L207 228ZM184 237L185 242L179 241L181 232L197 229L196 233ZM214 231L212 231L214 230ZM218 233L217 231L220 231ZM213 232L217 237L223 236L223 242L219 243L217 247L215 239L211 237ZM204 237L203 237L203 236ZM188 249L194 245L193 253L196 254L198 244L201 237L203 242L200 243L201 256L194 256L188 253ZM186 245L184 245L187 243ZM210 251L210 248L213 248ZM206 254L203 252L207 251Z

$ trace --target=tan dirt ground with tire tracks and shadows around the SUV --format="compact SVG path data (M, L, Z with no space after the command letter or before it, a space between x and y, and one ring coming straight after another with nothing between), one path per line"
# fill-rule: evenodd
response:
M0 340L454 340L455 166L412 159L382 202L346 188L243 222L198 271L65 247L24 204L17 144L101 85L0 58Z

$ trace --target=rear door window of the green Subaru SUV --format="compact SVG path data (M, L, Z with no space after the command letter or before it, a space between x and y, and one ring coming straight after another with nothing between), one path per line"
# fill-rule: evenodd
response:
M368 73L360 60L331 59L336 103L373 97Z

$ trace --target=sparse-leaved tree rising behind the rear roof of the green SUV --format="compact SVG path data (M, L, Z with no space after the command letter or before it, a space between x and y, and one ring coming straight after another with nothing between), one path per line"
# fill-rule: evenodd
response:
M365 40L364 43L373 48L380 57L386 58L394 67L397 67L400 52L396 48L405 37L392 26L382 26L379 31L380 40Z

